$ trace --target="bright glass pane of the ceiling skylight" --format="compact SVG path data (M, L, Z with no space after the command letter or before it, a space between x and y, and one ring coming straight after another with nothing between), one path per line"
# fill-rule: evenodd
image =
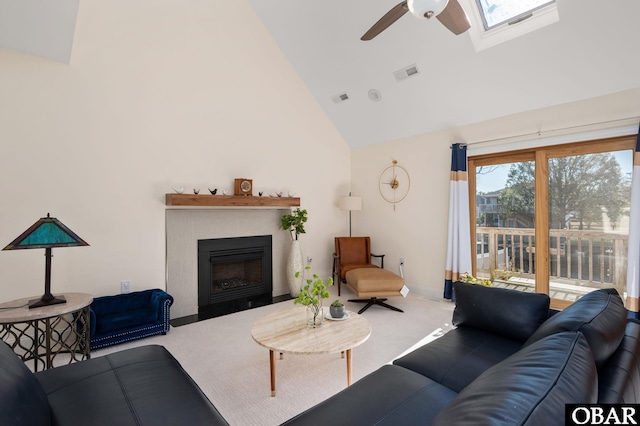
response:
M555 3L555 0L476 0L485 30L498 25L517 23L533 16L533 12Z

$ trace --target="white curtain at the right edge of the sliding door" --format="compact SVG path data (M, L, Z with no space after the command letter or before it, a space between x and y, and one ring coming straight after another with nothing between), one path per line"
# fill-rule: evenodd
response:
M629 253L627 267L627 309L638 318L640 311L640 129L633 153L631 213L629 217Z

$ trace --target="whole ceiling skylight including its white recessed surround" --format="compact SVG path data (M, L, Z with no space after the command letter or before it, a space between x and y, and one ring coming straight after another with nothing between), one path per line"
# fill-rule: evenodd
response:
M469 35L478 52L560 20L555 0L458 1L469 17Z

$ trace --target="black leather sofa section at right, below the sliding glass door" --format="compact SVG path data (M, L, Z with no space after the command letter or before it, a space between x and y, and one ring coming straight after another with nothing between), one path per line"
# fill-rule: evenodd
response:
M568 403L640 402L640 324L613 289L546 295L455 283L457 326L286 425L556 425Z

